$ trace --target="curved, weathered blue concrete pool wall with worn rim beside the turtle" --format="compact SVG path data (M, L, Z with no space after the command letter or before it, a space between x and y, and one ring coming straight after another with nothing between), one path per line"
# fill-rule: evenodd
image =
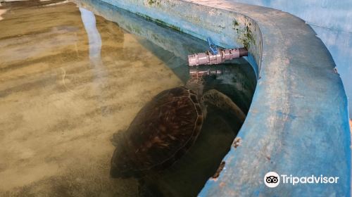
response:
M335 63L294 15L227 1L102 0L223 47L246 46L258 85L225 168L199 196L350 196L347 98ZM265 186L274 171L336 184Z

